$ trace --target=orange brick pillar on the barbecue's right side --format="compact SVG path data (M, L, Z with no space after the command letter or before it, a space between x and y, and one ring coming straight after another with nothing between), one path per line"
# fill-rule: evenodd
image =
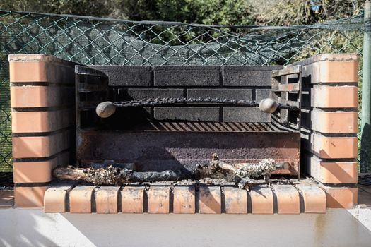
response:
M358 56L301 61L302 164L326 191L327 207L357 203Z

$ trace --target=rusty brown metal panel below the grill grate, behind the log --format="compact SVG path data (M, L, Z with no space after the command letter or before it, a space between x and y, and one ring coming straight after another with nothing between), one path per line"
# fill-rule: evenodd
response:
M300 133L80 131L78 162L135 163L138 171L177 170L206 165L211 154L231 164L273 158L287 164L276 174L298 175Z

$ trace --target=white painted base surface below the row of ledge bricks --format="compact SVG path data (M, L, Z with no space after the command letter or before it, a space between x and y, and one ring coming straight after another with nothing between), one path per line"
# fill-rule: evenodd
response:
M0 246L371 246L347 210L326 215L76 215L0 210Z

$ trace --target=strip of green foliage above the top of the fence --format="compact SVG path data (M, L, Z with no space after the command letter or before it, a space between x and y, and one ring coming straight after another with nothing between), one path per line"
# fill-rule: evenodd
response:
M365 0L2 0L0 9L206 25L307 25L360 13Z

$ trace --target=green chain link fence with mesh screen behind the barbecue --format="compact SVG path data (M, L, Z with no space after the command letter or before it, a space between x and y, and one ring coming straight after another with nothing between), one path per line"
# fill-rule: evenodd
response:
M0 171L12 170L8 54L45 53L87 65L285 65L315 54L362 54L363 30L362 14L259 27L0 11Z

